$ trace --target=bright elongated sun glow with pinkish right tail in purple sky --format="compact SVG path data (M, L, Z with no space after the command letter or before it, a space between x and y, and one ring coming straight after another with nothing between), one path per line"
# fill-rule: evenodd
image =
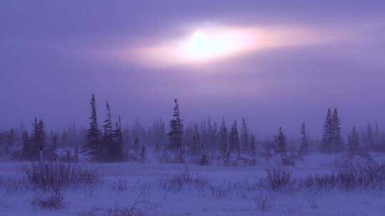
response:
M123 51L125 59L148 67L201 65L245 53L294 45L323 43L332 38L309 28L284 26L205 26L167 41Z

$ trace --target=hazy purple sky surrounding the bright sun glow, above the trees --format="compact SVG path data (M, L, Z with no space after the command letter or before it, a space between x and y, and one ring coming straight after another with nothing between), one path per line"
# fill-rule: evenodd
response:
M91 92L99 120L108 100L130 124L168 120L178 97L187 121L245 117L257 135L279 126L295 134L306 121L318 136L328 107L340 109L344 130L368 121L385 127L384 8L384 1L0 1L0 127L35 116L50 128L73 119L86 125ZM105 58L103 50L200 22L307 26L342 38L201 66Z

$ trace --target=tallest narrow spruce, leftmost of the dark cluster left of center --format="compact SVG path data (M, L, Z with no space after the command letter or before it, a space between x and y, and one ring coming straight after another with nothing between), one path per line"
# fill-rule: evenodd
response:
M100 161L101 159L101 141L100 131L98 130L98 121L96 119L96 99L95 95L91 97L91 122L86 132L86 144L83 146L83 152L91 158L91 161Z

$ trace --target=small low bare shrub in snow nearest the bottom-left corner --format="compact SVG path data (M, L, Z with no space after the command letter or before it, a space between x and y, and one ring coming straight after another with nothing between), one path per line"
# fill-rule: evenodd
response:
M56 192L53 194L39 196L32 200L31 204L36 207L39 207L39 209L41 210L58 210L64 207L63 199L63 195L60 192Z

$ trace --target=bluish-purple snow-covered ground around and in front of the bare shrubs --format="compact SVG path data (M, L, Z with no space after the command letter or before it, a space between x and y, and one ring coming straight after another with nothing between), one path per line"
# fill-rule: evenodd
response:
M294 177L331 173L339 155L310 155L288 168ZM16 175L21 163L0 163L0 175ZM91 164L103 173L103 185L96 188L66 189L64 207L40 210L31 200L43 196L36 190L9 192L0 188L0 215L116 215L135 207L143 215L385 215L384 190L329 190L270 192L258 188L265 168L274 166L262 158L256 166L193 166L188 169L204 185L183 185L180 190L163 183L185 169L180 164L106 163ZM203 183L202 183L203 184ZM258 205L266 201L262 210ZM110 211L108 211L110 210ZM127 211L125 211L127 212ZM139 213L137 212L137 215Z

